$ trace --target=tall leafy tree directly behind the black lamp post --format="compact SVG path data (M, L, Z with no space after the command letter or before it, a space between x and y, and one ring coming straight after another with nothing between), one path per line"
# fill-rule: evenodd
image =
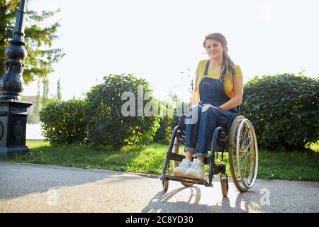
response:
M18 11L19 0L0 0L0 77L4 74L4 61L7 60L4 50L9 46L9 40L13 34ZM61 60L65 55L60 48L52 48L52 43L57 36L57 28L60 23L56 22L50 26L41 27L39 23L57 13L57 11L42 11L40 13L26 9L25 42L28 57L26 68L23 71L25 84L33 82L36 77L47 77L54 72L52 65Z

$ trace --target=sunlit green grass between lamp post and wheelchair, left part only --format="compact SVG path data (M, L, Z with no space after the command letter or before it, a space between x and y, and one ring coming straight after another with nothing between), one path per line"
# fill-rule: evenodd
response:
M13 155L6 162L25 162L46 165L81 167L86 169L117 170L161 174L167 146L152 144L146 148L91 148L89 145L50 146L47 142L27 141L27 155Z

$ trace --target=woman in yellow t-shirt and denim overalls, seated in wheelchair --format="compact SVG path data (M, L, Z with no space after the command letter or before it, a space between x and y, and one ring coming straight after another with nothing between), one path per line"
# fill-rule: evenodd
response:
M203 47L209 59L198 63L192 107L186 116L185 158L173 172L174 176L194 179L205 178L204 160L218 116L229 120L238 113L243 92L242 72L228 56L225 37L220 33L207 35Z

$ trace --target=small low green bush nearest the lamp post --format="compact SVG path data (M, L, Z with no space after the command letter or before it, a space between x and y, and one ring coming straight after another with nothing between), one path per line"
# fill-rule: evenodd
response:
M86 138L85 101L52 101L40 111L43 135L52 145L83 143Z

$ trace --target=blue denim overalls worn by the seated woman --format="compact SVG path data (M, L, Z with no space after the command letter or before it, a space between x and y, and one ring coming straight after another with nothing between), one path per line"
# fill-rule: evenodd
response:
M199 84L199 104L192 107L186 117L184 150L195 152L196 143L198 143L197 157L207 157L207 151L211 149L211 140L216 128L217 117L223 116L230 119L238 112L237 107L228 111L220 111L212 106L206 106L207 104L221 106L230 100L224 89L227 69L223 70L220 79L206 77L210 62L211 60L208 60L206 63L203 79Z

